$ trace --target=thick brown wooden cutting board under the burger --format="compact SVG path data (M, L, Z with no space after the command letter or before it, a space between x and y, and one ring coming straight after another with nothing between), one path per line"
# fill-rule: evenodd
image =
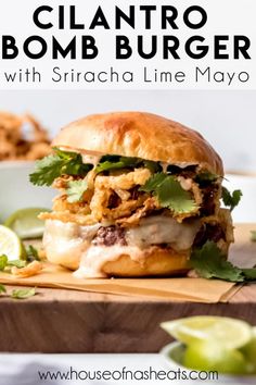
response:
M236 226L235 264L256 264L256 243ZM229 303L170 302L105 294L39 288L24 301L0 299L0 351L13 352L156 352L170 337L159 323L214 314L256 324L256 284L244 286Z

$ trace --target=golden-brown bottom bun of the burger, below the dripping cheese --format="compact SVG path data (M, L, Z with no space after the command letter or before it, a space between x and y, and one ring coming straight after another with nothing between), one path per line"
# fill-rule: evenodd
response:
M145 258L133 260L130 256L120 256L115 261L108 261L102 266L107 276L171 276L189 271L189 252L177 253L171 249L152 248Z

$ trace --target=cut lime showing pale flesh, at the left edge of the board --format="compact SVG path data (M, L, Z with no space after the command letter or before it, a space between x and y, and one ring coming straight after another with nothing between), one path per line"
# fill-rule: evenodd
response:
M10 228L0 225L0 256L7 256L9 261L25 258L24 246L18 236Z

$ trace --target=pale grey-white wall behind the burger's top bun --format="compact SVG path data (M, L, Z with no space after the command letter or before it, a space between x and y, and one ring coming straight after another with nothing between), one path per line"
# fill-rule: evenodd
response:
M51 131L90 113L139 110L200 131L227 171L256 171L256 91L0 91L0 110L31 112Z

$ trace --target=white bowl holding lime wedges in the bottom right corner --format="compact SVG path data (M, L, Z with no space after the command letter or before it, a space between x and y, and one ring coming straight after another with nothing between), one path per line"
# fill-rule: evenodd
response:
M226 375L226 374L218 374L218 378L212 377L210 380L206 380L206 372L204 371L196 371L190 370L182 365L182 359L184 355L184 346L181 343L171 343L166 345L162 350L161 355L164 358L165 365L169 371L175 371L176 373L181 373L183 375L184 382L177 382L177 384L218 384L218 385L255 385L256 384L256 376L254 375ZM193 375L194 380L185 380L190 378L190 373ZM197 376L197 374L202 375L202 380ZM212 372L213 373L213 372Z

